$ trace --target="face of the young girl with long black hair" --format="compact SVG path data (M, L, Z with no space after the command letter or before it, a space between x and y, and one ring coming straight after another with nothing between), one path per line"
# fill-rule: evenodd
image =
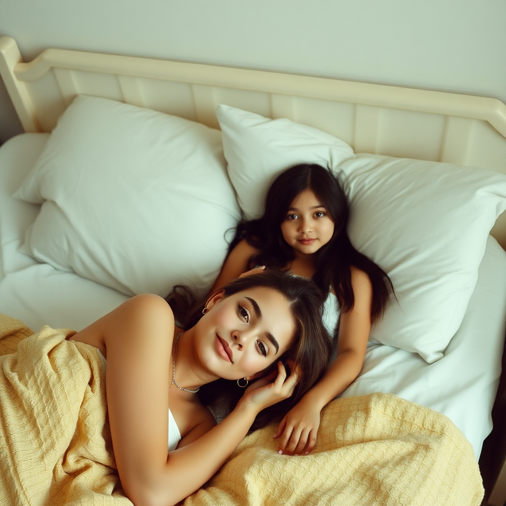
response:
M313 191L307 189L291 203L281 233L294 250L311 255L332 238L334 222Z

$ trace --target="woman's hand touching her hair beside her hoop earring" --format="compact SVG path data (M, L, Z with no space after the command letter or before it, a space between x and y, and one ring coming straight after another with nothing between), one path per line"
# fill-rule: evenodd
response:
M275 376L276 379L273 382ZM262 409L290 397L296 385L297 371L293 371L287 378L283 363L278 362L277 374L274 371L272 374L258 379L246 389L241 401L260 412Z

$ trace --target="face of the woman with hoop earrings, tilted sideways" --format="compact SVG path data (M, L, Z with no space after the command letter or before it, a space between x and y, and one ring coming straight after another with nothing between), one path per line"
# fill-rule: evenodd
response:
M226 379L250 378L290 346L295 324L286 299L256 287L207 302L195 326L195 348L208 372Z

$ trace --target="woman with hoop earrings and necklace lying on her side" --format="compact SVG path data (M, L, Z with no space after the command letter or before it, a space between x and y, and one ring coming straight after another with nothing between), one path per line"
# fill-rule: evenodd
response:
M183 328L163 299L146 294L73 335L106 358L114 455L136 506L174 504L191 494L256 419L258 425L282 416L318 381L332 349L322 314L312 281L273 271L230 282L208 298L198 321L190 312ZM196 392L218 378L244 395L216 426ZM168 453L178 430L178 449Z

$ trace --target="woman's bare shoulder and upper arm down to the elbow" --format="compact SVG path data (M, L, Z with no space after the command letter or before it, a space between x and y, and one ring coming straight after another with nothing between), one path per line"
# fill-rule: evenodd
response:
M129 299L73 336L105 351L114 456L123 490L136 506L150 503L143 487L167 463L173 336L170 307L148 294Z

